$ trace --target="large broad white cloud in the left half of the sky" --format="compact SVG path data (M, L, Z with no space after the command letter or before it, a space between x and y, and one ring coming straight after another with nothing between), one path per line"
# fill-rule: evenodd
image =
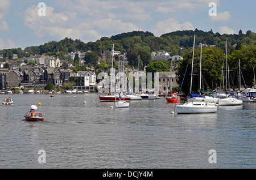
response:
M114 35L115 32L127 32L142 30L143 28L138 28L136 25L130 22L122 22L119 15L113 12L105 11L103 15L96 9L84 8L88 15L82 15L80 13L80 8L83 6L73 5L72 2L66 0L66 2L71 6L69 9L75 11L72 13L68 10L63 10L61 12L55 12L53 7L46 7L46 16L39 16L38 10L40 7L31 6L25 11L23 17L24 24L31 28L35 35L38 37L51 36L55 38L79 38L82 41L96 41L102 36ZM80 2L80 5L87 6L89 1ZM106 8L107 10L113 7L108 6L108 3L104 3L106 7L101 5L101 8ZM88 5L89 6L89 5ZM93 14L90 15L90 14ZM104 32L101 35L100 32Z

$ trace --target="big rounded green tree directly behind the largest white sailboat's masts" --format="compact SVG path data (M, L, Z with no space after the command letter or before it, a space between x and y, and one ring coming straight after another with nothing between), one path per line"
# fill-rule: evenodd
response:
M200 75L200 49L195 49L194 62L193 62L193 80L192 92L199 91L199 75ZM222 65L224 60L224 51L220 48L203 48L202 50L202 76L205 80L203 87L210 87L214 89L220 85ZM189 61L189 63L188 63ZM182 85L181 91L188 95L191 84L191 69L192 69L192 53L187 52L184 54L183 61L179 63L177 68L178 83ZM186 72L187 70L187 72ZM186 72L186 73L185 73ZM205 86L204 86L205 84ZM213 85L213 87L212 87Z

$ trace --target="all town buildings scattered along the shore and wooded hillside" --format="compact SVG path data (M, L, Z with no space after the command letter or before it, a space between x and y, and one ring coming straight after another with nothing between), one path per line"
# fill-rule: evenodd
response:
M20 87L22 87L26 93L29 89L34 89L35 91L43 90L47 83L51 83L59 91L63 89L77 89L77 91L97 92L98 83L96 82L97 77L93 66L86 66L86 70L77 72L72 70L75 55L77 54L79 57L79 66L84 66L84 57L88 52L71 52L65 55L65 57L69 57L68 60L61 60L59 57L44 54L18 58L17 54L13 54L13 60L0 62L0 89L2 92L8 92L7 90L9 90L9 92L18 93ZM108 51L103 53L102 57L98 57L97 63L105 62L108 59L108 55ZM114 51L114 57L118 56L121 59L125 57L121 52ZM173 55L171 57L168 52L152 52L151 57L152 61L168 61L170 59L181 61L183 59L180 55ZM126 72L138 72L138 69L134 67L126 68L125 70ZM146 72L145 68L141 72ZM170 77L170 72L161 72L159 74L159 94L163 95L166 93L167 88L170 89L167 83ZM174 73L172 73L172 78L174 78L173 85L177 86Z

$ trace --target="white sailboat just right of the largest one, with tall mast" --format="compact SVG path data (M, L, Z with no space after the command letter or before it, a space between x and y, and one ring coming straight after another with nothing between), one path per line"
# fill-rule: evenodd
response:
M227 51L227 46L226 46L226 51ZM227 72L228 72L228 62L226 59L226 86L225 89L227 90ZM238 98L234 98L234 97L226 97L226 98L220 98L220 100L218 101L218 105L219 106L237 106L237 105L241 105L243 103L242 100L238 100Z

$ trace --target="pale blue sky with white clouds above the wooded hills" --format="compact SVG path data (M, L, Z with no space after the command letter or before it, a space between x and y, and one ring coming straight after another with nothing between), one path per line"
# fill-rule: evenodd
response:
M0 49L123 32L255 32L255 0L0 0Z

